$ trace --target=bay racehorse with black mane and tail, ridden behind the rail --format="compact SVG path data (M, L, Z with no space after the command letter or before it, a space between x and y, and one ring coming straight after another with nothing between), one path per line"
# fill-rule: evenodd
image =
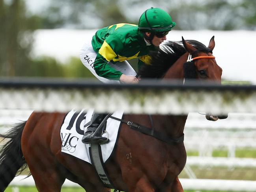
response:
M182 45L183 44L183 45ZM212 50L214 36L206 47L195 40L175 43L169 41L152 56L151 65L145 65L141 78L183 79L187 70L196 79L221 84L222 69L217 65ZM191 54L193 62L186 62ZM189 77L190 75L188 75ZM172 106L170 106L172 107ZM60 127L64 113L33 112L27 121L17 124L3 138L0 155L0 191L4 191L17 171L26 166L35 180L39 192L60 192L65 179L78 183L86 192L108 192L99 181L92 165L61 153ZM170 138L180 138L187 115L125 114L123 119L154 129ZM216 120L217 116L208 116ZM125 192L182 192L178 175L186 163L183 140L168 144L122 124L114 155L105 164L114 186Z

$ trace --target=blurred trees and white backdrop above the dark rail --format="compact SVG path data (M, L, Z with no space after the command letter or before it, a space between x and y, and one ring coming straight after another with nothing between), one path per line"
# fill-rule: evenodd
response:
M215 35L223 79L256 82L255 0L0 0L0 76L93 77L79 59L86 39L104 26L137 24L149 7L177 23L168 40L208 45Z

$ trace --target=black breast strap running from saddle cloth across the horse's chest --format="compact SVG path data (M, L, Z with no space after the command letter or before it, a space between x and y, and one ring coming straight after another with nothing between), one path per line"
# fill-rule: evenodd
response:
M153 136L163 142L166 142L167 144L178 144L179 142L183 142L184 141L184 134L182 134L179 138L172 138L170 136L167 136L166 134L163 134L161 132L158 132L154 129L149 129L148 127L145 127L143 125L140 125L138 123L134 123L132 121L125 121L123 119L119 119L113 116L110 116L110 118L121 121L123 123L126 123L127 125L129 125L131 127L131 129L137 130L139 132L142 132L144 134Z

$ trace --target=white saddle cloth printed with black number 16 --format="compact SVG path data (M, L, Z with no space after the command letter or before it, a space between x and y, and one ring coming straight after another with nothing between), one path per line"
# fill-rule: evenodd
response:
M66 114L60 129L62 153L67 153L90 164L92 164L89 154L90 144L82 143L82 137L90 124L92 114L93 110L71 110ZM116 111L112 116L121 119L123 111ZM120 123L120 121L111 118L107 120L106 131L108 132L108 135L105 133L103 134L103 137L108 136L110 141L107 144L101 144L103 162L106 162L112 154L118 138Z

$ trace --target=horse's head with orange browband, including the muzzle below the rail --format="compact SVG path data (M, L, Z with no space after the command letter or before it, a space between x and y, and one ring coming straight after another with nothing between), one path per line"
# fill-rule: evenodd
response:
M198 80L207 80L210 82L221 84L222 69L219 67L219 65L217 65L215 56L213 56L212 54L213 48L215 47L214 36L211 38L207 48L202 46L201 44L198 44L198 42L194 40L185 41L183 37L182 43L187 52L189 53L187 63L184 63L184 77L196 78ZM191 69L191 66L194 68L194 70L192 70L192 76L186 74L186 71L190 71L189 74L191 74L191 70L187 69ZM224 114L220 116L206 114L206 119L210 121L226 119L227 117L228 115Z

